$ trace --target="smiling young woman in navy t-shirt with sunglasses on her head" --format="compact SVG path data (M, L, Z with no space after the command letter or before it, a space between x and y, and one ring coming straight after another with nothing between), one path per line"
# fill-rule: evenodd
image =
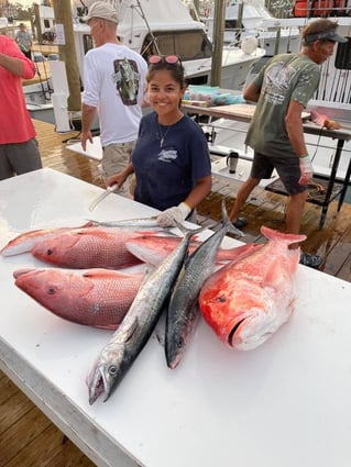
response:
M180 110L184 68L175 55L149 58L147 97L153 112L140 122L131 164L109 178L121 187L135 174L135 201L163 211L162 226L189 219L211 189L211 164L201 129ZM194 221L194 219L191 218Z

